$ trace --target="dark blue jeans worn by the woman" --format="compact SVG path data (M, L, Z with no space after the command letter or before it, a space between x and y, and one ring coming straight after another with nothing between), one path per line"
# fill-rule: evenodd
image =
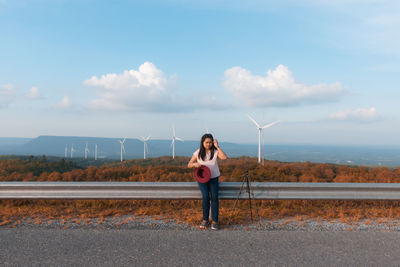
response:
M208 221L210 217L210 200L211 200L211 219L218 222L219 201L218 201L218 178L212 178L207 183L199 183L202 195L201 205L203 207L203 220Z

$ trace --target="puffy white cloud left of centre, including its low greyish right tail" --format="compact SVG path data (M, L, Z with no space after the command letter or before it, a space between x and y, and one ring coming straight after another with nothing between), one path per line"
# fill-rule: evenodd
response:
M202 90L196 94L179 95L176 75L167 78L151 62L143 63L138 70L93 76L83 83L96 88L99 94L88 103L92 109L191 112L231 108L231 105L221 102L213 91Z

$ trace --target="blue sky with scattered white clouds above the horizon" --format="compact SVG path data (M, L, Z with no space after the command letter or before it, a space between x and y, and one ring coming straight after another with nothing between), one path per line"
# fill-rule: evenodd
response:
M400 3L276 2L0 0L0 137L400 145Z

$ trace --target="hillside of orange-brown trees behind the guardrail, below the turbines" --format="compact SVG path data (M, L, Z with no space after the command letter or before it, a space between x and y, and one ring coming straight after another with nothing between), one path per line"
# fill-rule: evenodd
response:
M193 181L188 161L189 157L159 157L111 161L95 167L83 166L82 159L0 157L0 181ZM219 166L221 181L240 181L249 171L252 180L260 182L400 182L400 168L279 161L262 165L249 157L230 158L220 161Z

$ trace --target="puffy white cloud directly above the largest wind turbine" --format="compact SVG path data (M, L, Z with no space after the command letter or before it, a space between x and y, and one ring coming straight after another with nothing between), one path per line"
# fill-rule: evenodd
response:
M306 85L296 81L288 67L279 65L266 76L241 67L225 71L223 86L238 101L251 107L294 106L337 101L345 93L339 83Z

